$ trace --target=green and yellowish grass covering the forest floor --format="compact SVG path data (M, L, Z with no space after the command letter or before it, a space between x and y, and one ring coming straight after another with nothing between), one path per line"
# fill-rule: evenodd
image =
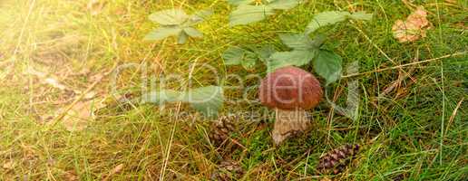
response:
M424 5L433 24L427 37L415 43L397 43L392 36L395 20L411 13L399 1L309 1L266 21L233 28L227 18L232 8L224 1L112 0L96 15L87 10L87 2L0 2L0 180L208 180L221 159L238 161L246 171L243 180L468 178L466 53L402 68L411 78L398 69L378 71L466 52L467 1L413 2ZM154 26L147 16L171 7L188 12L213 8L215 14L199 26L205 37L184 45L171 38L143 42ZM336 47L345 64L358 61L359 72L375 71L327 88L328 96L342 105L346 82L358 81L357 119L336 114L323 101L310 111L314 129L277 148L268 119L241 123L243 129L234 138L245 148L216 148L207 136L210 119L183 104L164 110L150 105L109 108L82 131L70 132L61 124L51 128L47 116L70 105L70 96L25 73L28 68L50 72L73 90L86 90L93 75L110 71L114 64L139 63L149 65L146 71L153 76L178 73L180 78L168 88L184 90L218 83L202 66L206 63L219 71L224 86L235 85L226 75L247 76L265 67L252 72L224 66L220 54L229 45L274 44L285 50L278 33L301 32L314 14L337 9L375 14L368 23L322 30L331 31L327 46ZM89 72L80 74L83 70ZM388 90L398 78L402 81ZM254 98L257 82L252 79L247 85L248 96ZM116 84L105 78L93 90L112 100L112 86L120 92L140 90L141 70L126 69ZM226 96L239 98L240 93L229 90ZM264 110L258 103L239 102L226 104L222 113ZM182 117L181 112L190 114ZM361 144L362 150L345 173L317 174L318 157L346 143ZM115 170L119 165L122 169Z

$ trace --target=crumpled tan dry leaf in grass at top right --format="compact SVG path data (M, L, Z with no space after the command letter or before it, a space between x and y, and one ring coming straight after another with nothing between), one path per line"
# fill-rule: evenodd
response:
M427 12L423 7L419 6L406 21L396 20L392 31L395 38L400 43L414 42L425 37L425 31L429 28L427 21Z

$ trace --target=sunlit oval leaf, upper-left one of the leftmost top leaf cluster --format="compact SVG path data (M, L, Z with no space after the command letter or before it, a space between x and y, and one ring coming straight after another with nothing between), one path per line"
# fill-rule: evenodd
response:
M181 9L167 9L150 14L150 20L162 25L177 25L184 23L189 15Z

